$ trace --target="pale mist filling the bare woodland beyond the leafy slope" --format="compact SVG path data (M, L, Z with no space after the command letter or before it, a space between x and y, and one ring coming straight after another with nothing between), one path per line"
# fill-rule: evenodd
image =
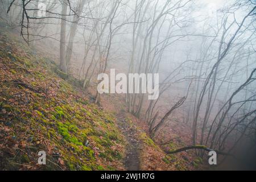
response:
M256 142L255 9L241 0L1 0L1 19L27 44L57 48L60 71L85 90L110 68L159 73L156 100L125 94L151 138L170 142L165 126L182 113L192 146L232 153Z

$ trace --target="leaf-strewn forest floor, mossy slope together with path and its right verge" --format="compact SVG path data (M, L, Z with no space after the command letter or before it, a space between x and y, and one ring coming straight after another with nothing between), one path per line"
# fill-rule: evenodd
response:
M60 72L54 57L0 28L0 169L200 169L202 159L192 152L166 155L122 97L94 104L93 92ZM38 164L40 150L47 165Z

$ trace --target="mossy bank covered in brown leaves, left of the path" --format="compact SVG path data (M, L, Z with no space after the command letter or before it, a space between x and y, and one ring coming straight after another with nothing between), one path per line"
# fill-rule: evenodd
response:
M54 61L1 27L0 169L124 169L115 118L71 83ZM37 164L42 150L46 165Z

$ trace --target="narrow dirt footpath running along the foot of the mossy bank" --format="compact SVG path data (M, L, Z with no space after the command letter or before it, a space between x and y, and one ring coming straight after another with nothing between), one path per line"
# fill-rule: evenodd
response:
M139 141L136 139L136 130L125 121L123 113L117 115L118 127L127 140L125 167L128 171L138 171L139 168Z

